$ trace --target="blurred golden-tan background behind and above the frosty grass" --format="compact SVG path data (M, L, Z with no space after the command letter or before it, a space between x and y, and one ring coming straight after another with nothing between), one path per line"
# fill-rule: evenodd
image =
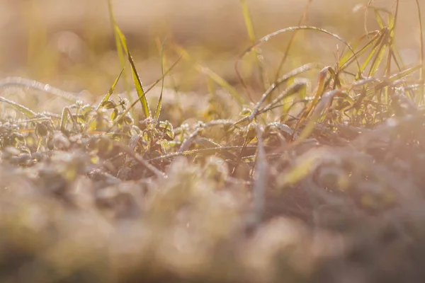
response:
M313 0L304 24L325 28L353 40L364 33L367 1ZM375 6L392 8L391 0ZM307 0L246 0L256 32L262 37L297 25ZM86 90L94 96L108 91L120 72L106 0L0 0L0 76L24 76L64 88ZM424 12L424 6L421 7ZM116 21L128 38L137 70L145 84L161 76L158 42L167 38L169 64L177 54L176 43L201 64L237 85L234 63L250 41L239 0L116 0ZM368 16L368 29L378 25ZM397 36L406 63L419 59L419 28L415 1L400 1ZM401 35L402 34L402 35ZM263 45L264 64L271 74L276 68L290 33ZM338 48L334 38L302 31L295 37L290 60L284 69L307 62L333 64ZM341 50L339 50L341 51ZM254 64L255 60L251 60ZM254 67L244 65L246 72ZM190 62L181 62L174 72L181 89L206 90L205 79ZM174 81L174 83L176 83ZM120 86L122 87L122 86Z

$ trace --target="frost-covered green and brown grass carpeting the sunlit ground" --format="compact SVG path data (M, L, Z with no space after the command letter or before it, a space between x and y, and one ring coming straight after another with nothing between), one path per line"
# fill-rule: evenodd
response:
M404 64L398 0L368 1L378 29L347 39L306 23L312 2L299 25L256 38L240 1L251 43L238 83L168 38L162 76L143 86L111 1L120 69L100 101L0 80L58 110L0 96L0 282L420 282L423 44ZM266 46L287 33L268 69ZM283 71L300 33L339 42L334 64ZM205 99L176 91L183 65L203 74Z

